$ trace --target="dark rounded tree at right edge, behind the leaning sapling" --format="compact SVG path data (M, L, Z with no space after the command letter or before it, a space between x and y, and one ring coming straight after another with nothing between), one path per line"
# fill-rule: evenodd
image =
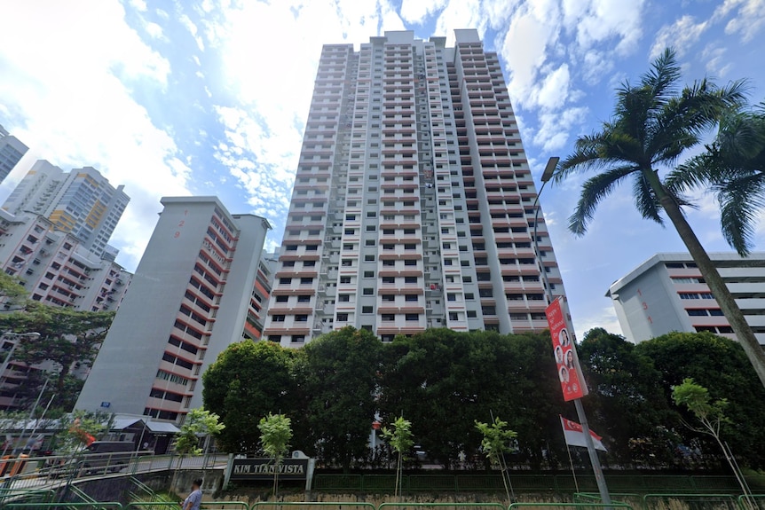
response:
M672 403L672 388L687 378L711 388L714 399L725 398L730 418L730 425L722 430L725 441L749 467L765 466L765 428L761 427L765 423L765 388L736 341L712 333L668 333L640 342L635 353L649 357L659 371L661 391L653 396L656 401ZM706 437L697 435L696 439L704 444ZM716 450L716 445L707 445Z

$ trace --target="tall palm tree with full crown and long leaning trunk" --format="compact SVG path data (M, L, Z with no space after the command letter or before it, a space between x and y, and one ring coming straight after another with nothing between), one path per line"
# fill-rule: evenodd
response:
M582 184L580 200L569 218L569 230L582 236L598 203L632 177L635 207L643 218L659 224L664 224L662 211L669 217L765 386L765 351L683 215L682 207L690 203L659 176L659 168L674 166L723 114L744 104L745 84L719 88L704 79L678 92L680 77L674 51L667 49L636 85L622 83L611 121L577 139L574 153L559 163L554 179L560 182L578 172L599 171Z

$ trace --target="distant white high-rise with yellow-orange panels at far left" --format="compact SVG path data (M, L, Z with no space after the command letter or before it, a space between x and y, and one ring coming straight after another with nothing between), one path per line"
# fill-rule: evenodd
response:
M28 211L46 216L59 231L81 239L93 254L114 260L107 245L130 201L123 191L91 167L65 172L48 161L37 161L5 200L12 213Z

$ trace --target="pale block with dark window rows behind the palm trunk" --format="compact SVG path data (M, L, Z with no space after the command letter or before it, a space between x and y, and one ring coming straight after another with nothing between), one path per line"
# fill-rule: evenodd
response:
M710 258L746 322L765 345L765 253L746 258L711 253ZM610 297L622 332L629 341L644 341L673 331L709 331L735 339L733 329L714 300L696 263L687 253L660 253L615 281Z

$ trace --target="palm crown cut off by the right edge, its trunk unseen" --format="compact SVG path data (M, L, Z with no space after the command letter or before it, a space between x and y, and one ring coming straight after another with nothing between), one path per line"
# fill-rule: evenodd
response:
M704 188L720 203L722 236L739 255L752 248L757 214L765 207L765 103L722 116L706 153L666 177L673 192Z

